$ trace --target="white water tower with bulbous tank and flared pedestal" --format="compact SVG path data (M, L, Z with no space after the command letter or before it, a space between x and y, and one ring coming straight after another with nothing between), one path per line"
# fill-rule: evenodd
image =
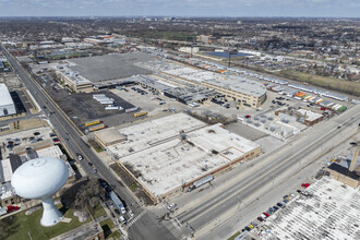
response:
M12 176L11 184L24 199L41 200L44 213L41 226L58 224L62 214L53 204L52 195L67 182L67 165L53 157L35 158L20 166Z

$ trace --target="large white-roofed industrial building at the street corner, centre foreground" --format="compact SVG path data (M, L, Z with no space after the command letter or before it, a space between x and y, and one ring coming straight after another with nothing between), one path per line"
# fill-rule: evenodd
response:
M261 153L259 144L225 130L220 123L207 125L185 113L116 131L121 141L108 145L108 153L155 203Z

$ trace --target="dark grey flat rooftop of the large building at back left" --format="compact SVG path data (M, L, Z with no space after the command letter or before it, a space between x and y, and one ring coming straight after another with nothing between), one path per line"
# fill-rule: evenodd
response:
M152 71L135 65L137 62L153 60L144 52L111 53L105 56L68 60L74 63L70 69L92 82L124 79L137 74L149 74Z

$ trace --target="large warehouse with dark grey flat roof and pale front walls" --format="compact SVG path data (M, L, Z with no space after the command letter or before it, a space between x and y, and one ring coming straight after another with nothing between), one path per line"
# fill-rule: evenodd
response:
M105 56L68 60L52 67L60 81L76 93L129 84L127 77L151 74L152 71L135 65L154 57L144 52L111 53Z

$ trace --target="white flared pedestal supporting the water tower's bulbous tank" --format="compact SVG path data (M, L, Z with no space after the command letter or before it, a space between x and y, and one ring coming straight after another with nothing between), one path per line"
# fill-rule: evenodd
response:
M61 217L62 213L53 204L52 196L43 200L44 213L40 220L41 226L51 227L57 225Z

